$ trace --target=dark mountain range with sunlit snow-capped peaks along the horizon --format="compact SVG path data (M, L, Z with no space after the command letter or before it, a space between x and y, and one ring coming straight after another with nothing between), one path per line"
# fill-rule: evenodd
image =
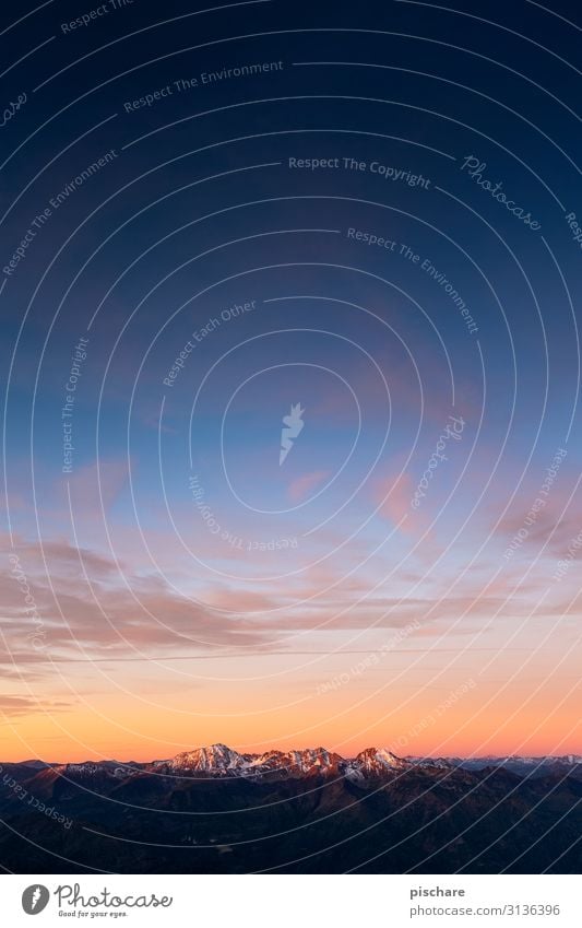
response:
M0 765L0 861L61 872L574 872L582 757L368 748Z

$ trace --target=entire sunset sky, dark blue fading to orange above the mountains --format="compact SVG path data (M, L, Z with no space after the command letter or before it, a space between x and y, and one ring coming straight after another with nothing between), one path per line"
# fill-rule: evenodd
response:
M0 759L582 753L582 23L461 5L3 11Z

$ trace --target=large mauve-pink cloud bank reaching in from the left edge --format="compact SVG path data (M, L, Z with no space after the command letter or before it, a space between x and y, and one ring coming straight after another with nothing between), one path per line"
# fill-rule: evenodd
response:
M19 560L0 575L3 603L0 667L5 677L54 672L61 658L102 658L259 645L264 632L241 614L274 602L242 590L218 590L197 602L161 575L121 574L109 557L63 541L16 540ZM8 560L8 556L7 556ZM84 576L84 571L86 577ZM215 607L215 608L213 608ZM272 638L272 635L271 635Z

